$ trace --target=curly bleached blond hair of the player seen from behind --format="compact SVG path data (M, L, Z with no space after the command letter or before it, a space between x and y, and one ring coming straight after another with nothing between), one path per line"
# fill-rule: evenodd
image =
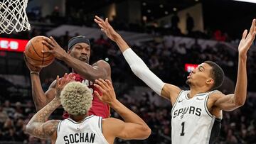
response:
M81 116L92 106L92 92L81 82L70 82L60 93L60 101L70 115Z

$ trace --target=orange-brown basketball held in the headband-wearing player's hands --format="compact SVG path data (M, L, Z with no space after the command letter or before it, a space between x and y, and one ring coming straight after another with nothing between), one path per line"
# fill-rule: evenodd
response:
M54 56L50 53L43 53L42 50L49 50L43 45L45 36L36 36L28 41L25 48L25 55L28 62L35 67L47 67L54 61Z

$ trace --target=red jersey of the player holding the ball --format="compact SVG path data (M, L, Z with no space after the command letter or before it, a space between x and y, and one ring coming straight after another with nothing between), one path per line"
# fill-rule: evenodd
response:
M85 84L89 89L92 91L92 107L89 110L89 116L95 115L95 116L102 116L102 118L109 118L110 117L110 106L108 104L102 103L100 99L94 95L94 91L97 91L99 94L100 90L97 89L97 87L93 86L93 82L88 81L87 79L84 79L80 76L80 74L73 73L73 76L75 76L76 82L82 82L82 84ZM63 118L68 118L69 114L68 112L64 111Z

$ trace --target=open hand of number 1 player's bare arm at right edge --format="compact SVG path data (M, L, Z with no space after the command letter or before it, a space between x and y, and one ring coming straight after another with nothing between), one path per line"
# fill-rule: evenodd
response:
M250 46L252 45L253 40L255 39L256 34L256 23L255 19L252 21L252 26L250 28L250 32L247 34L247 30L242 33L242 40L240 40L238 46L239 55L246 55Z

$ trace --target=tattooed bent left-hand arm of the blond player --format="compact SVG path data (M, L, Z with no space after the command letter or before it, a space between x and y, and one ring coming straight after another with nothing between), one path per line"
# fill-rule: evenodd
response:
M68 74L65 74L61 80L59 80L59 77L57 76L55 98L31 118L26 126L26 133L41 139L53 138L54 134L56 134L60 120L47 121L47 119L49 118L50 114L53 113L58 106L60 106L60 92L63 87L74 79L75 77L71 77L71 75Z

